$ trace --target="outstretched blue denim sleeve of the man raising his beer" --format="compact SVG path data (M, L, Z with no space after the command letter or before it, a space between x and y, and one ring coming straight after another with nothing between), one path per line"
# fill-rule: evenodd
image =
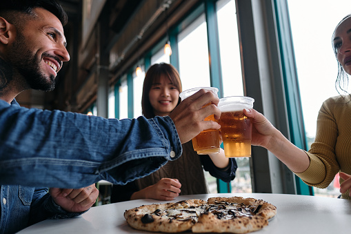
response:
M126 184L181 156L170 117L104 119L0 100L0 184ZM43 179L45 178L45 179Z

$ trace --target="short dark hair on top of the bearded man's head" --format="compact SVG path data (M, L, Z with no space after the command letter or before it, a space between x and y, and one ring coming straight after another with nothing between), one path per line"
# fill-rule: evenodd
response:
M0 16L11 21L17 21L11 12L22 12L33 15L34 8L43 8L54 14L62 25L65 26L68 17L61 4L57 0L0 0Z

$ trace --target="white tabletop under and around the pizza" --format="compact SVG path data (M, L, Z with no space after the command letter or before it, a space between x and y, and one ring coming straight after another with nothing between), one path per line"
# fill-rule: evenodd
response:
M268 226L254 232L255 234L333 234L349 233L351 231L351 201L345 199L269 193L220 193L180 196L175 201L182 199L207 200L208 197L231 197L235 195L263 199L277 206L277 215L270 220ZM81 217L66 220L45 220L19 233L148 233L130 228L123 217L123 213L126 209L154 203L165 202L153 199L139 199L92 207L90 211L81 215Z

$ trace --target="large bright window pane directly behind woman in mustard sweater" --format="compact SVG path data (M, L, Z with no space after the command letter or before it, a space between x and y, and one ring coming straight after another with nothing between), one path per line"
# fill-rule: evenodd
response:
M337 60L332 51L332 33L337 23L351 13L351 1L288 0L288 7L305 132L310 146L316 134L321 104L328 97L339 95L334 86ZM314 188L314 193L337 197L338 186L339 182L332 182L326 189Z

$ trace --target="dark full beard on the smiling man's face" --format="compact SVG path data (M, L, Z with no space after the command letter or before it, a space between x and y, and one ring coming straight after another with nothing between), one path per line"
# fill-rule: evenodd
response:
M45 52L41 57L43 56L52 58L52 55ZM39 67L40 58L32 54L21 32L17 34L17 39L12 45L8 59L11 66L24 77L29 88L43 91L54 89L55 76L52 74L45 75L41 71Z

